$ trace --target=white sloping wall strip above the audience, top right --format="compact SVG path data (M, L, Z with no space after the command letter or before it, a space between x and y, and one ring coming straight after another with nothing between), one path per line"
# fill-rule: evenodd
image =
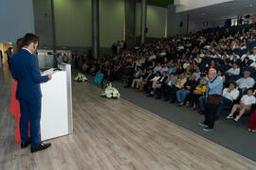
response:
M225 3L233 0L174 0L179 1L184 6L176 7L176 12L183 12L195 8L208 7L220 3Z

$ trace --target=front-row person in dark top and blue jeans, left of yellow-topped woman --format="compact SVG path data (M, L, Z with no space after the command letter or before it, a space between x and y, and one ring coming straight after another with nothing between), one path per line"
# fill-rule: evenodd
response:
M184 84L184 87L176 92L176 98L180 106L184 104L185 99L190 93L192 93L197 84L198 83L195 80L195 76L192 75L191 78Z

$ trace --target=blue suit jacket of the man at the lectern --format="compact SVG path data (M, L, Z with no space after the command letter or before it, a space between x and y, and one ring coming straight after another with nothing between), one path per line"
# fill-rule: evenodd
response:
M16 98L34 99L42 97L40 83L48 76L41 76L38 59L26 49L21 49L10 59L11 75L18 81Z

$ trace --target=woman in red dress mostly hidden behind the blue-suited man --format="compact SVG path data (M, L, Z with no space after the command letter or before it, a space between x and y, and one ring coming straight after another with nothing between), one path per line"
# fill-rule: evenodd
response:
M13 55L18 53L22 48L22 38L18 39L16 42L16 47L13 52ZM20 117L21 117L21 111L20 111L20 103L16 98L16 90L17 90L17 83L18 81L14 81L13 87L12 87L12 93L11 93L11 102L10 102L10 109L9 111L15 116L15 119L17 121L17 128L15 132L15 140L17 143L21 142L21 133L20 133Z

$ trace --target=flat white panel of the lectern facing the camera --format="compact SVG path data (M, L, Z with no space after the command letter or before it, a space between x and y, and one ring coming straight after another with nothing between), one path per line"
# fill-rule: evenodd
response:
M52 79L41 84L41 140L68 134L66 72L58 71Z

